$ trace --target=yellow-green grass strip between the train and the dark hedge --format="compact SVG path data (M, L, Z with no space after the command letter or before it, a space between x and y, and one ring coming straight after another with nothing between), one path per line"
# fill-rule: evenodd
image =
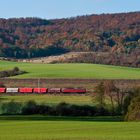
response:
M77 105L93 105L92 98L84 95L20 95L20 96L0 96L0 102L20 102L25 103L33 100L41 104L58 104L66 102Z

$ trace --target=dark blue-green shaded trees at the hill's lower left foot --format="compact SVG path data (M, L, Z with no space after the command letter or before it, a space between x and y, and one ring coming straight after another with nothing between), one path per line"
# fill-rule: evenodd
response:
M34 58L51 55L60 55L66 52L69 52L69 50L56 46L50 46L45 48L28 48L28 49L9 46L1 49L1 56L20 59L20 58Z

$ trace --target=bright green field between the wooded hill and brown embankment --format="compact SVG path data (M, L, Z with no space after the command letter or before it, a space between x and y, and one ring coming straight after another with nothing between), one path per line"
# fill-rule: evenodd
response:
M32 64L0 61L0 70L15 66L28 72L15 78L140 79L139 68L98 64Z

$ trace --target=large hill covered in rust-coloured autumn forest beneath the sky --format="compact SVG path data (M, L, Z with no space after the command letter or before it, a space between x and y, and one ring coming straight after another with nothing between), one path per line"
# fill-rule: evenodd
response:
M0 19L1 57L32 58L70 51L107 52L119 61L131 56L127 65L140 66L140 12L55 20Z

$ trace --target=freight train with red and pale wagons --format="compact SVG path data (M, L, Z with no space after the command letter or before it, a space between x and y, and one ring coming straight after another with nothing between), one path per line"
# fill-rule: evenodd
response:
M63 94L84 94L86 93L86 89L84 88L31 88L31 87L21 87L21 88L5 88L0 87L0 93L21 93L21 94L53 94L53 93L63 93Z

